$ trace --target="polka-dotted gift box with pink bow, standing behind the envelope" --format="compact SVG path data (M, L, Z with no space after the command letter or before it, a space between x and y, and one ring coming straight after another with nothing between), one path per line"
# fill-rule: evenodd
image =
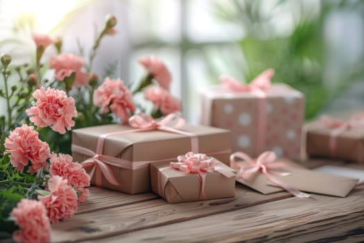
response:
M222 85L201 90L201 124L232 131L233 151L257 157L263 151L300 158L304 95L284 83L270 83L274 70L248 85L221 76Z

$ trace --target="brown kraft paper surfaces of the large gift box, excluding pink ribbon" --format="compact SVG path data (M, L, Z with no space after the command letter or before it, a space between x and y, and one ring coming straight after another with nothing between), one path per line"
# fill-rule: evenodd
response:
M80 153L80 149L76 151L76 146L95 152L101 135L132 129L135 128L112 124L73 130L73 159L78 162L92 160L91 155L93 154ZM193 133L198 137L198 151L213 155L226 164L229 163L229 154L231 153L229 131L209 126L189 125L182 126L179 129L187 133ZM110 135L105 139L102 154L103 156L110 156L123 161L120 165L118 161L103 162L103 165L110 168L117 184L110 183L110 180L105 178L105 173L101 173L101 169L97 165L95 165L95 173L92 176L91 183L128 194L149 192L149 162L171 161L180 154L187 153L187 151L191 151L191 137L188 135L165 131L143 131ZM90 172L93 168L92 166L85 169Z

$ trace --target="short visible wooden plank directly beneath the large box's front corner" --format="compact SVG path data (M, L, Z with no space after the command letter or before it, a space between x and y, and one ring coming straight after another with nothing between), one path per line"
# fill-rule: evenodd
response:
M78 205L76 214L92 212L105 208L113 208L116 206L125 206L157 198L159 197L153 193L130 195L107 190L101 187L89 187L89 199Z

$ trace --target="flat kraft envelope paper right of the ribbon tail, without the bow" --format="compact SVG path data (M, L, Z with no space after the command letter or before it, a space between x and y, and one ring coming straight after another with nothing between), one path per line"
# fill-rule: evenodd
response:
M289 168L286 170L291 174L277 176L279 180L303 192L345 197L358 183L356 178L323 174L309 169ZM267 185L277 186L271 181L268 181Z

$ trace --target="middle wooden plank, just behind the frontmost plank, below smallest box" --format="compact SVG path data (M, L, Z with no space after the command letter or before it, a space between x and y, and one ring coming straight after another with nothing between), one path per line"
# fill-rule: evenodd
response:
M114 193L117 194L118 192ZM236 186L236 197L234 199L177 204L168 204L162 199L157 199L126 206L116 205L97 212L89 211L75 215L71 219L54 224L51 239L52 242L100 239L130 231L248 208L290 196L286 192L263 195L239 184ZM105 201L107 200L105 199Z

